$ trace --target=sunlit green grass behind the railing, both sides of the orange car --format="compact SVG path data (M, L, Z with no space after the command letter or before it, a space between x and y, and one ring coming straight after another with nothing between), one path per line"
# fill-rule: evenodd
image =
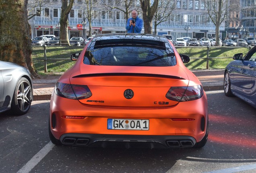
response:
M65 72L75 61L70 60L73 53L81 52L83 46L47 46L47 73ZM186 54L190 57L190 62L185 66L190 70L206 69L207 63L207 48L206 47L176 47L179 54ZM249 51L249 47L210 47L209 48L209 69L222 69L233 60L233 55ZM43 46L33 46L32 59L35 69L39 74L44 73L44 49ZM55 59L55 60L50 60ZM57 59L57 60L56 60ZM59 59L59 60L58 60Z

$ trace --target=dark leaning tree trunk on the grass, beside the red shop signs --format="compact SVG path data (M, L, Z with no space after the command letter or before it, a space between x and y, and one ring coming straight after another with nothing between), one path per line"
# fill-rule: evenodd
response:
M74 0L62 0L62 7L61 7L61 16L60 16L60 40L59 44L68 44L68 14L72 9Z

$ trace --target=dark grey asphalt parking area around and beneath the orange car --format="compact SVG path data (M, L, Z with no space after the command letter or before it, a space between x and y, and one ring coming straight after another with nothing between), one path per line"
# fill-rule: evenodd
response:
M49 101L29 113L0 114L0 173L255 173L256 109L222 91L206 92L209 139L202 149L55 146Z

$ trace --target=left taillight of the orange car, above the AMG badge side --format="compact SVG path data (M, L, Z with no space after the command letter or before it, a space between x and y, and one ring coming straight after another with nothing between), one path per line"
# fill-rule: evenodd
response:
M61 82L56 83L54 92L60 97L75 100L87 99L92 96L87 85L66 84Z

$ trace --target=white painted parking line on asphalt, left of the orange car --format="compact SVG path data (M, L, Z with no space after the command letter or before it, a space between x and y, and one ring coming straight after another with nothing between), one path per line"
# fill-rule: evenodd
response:
M49 153L55 145L50 141L47 143L34 157L32 157L26 165L24 165L17 173L29 173L42 159Z

